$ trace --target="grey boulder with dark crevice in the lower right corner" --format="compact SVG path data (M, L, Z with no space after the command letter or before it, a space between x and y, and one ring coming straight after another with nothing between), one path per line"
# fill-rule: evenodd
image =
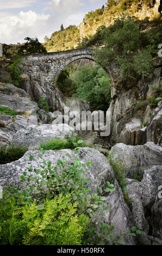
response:
M162 166L153 166L145 170L141 182L128 180L126 191L135 225L143 231L139 240L143 245L162 243L162 199L158 197L158 188L162 184L161 174Z

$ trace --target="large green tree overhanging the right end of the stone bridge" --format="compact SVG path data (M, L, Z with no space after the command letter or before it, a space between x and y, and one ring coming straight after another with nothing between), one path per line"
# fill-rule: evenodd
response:
M130 81L137 75L148 74L152 67L152 48L138 52L142 47L140 31L132 18L122 16L116 19L113 25L104 29L103 38L105 47L96 50L94 54L97 63L107 66L117 60L123 78Z

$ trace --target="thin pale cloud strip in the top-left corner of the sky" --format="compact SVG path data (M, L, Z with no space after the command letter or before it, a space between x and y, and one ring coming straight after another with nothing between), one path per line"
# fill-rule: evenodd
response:
M30 6L37 0L0 0L0 10Z

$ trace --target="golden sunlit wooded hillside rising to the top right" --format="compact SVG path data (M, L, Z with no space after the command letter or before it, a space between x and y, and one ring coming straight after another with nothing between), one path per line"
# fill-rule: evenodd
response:
M157 27L161 21L161 1L157 0L108 0L106 7L89 11L83 22L77 26L69 26L63 31L54 32L51 38L46 37L43 44L48 52L71 50L84 47L82 41L90 39L96 34L99 27L108 27L114 19L121 15L132 16L134 21L145 30L145 27ZM91 42L87 46L92 46ZM96 42L95 42L96 46Z

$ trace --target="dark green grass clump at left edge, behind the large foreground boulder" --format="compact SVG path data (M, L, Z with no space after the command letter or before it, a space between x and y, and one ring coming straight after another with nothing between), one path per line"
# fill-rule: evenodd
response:
M2 145L0 147L0 164L10 163L20 159L28 149L15 147L14 145Z

